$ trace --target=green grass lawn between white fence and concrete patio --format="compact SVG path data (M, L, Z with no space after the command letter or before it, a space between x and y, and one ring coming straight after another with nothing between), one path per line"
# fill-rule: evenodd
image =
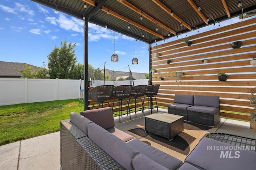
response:
M0 145L60 130L60 121L79 113L78 99L0 106Z

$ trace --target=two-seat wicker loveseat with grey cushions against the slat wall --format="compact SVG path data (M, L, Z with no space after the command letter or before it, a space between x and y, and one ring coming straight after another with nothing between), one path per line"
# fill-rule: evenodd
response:
M220 97L175 94L168 113L184 116L184 120L214 127L220 122Z

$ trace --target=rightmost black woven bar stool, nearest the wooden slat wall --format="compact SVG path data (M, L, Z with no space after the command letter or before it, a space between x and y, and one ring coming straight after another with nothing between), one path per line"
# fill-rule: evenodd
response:
M144 106L144 107L148 108L148 110L151 109L151 114L152 114L152 109L154 108L156 108L158 111L157 102L156 102L156 105L153 105L152 98L155 98L155 101L156 101L156 97L154 95L157 95L159 87L160 87L160 84L149 85L145 90L146 97L144 97L143 99L143 105L144 105L145 98L148 98L148 106Z

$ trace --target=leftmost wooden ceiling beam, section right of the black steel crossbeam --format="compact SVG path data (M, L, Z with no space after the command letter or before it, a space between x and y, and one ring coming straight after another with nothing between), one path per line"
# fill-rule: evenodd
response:
M152 30L150 30L150 29L148 29L146 27L143 27L142 25L140 25L140 24L138 24L138 23L136 23L136 22L134 22L134 21L124 17L124 16L121 16L120 14L118 14L118 13L112 11L112 10L109 10L108 8L106 8L104 6L102 6L101 10L104 11L104 12L108 12L110 15L115 16L116 18L119 18L120 20L123 20L123 21L126 21L128 23L131 23L132 25L134 25L134 26L136 26L136 27L138 27L140 29L143 29L144 31L147 31L148 33L151 33L151 34L153 34L153 35L155 35L157 37L160 37L160 38L164 39L164 36L154 32L154 31L152 31Z

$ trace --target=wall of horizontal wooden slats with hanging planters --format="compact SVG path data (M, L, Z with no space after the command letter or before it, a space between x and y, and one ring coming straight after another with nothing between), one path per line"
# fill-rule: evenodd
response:
M248 114L241 113L253 110L248 98L256 86L256 66L250 65L256 58L256 18L189 38L191 46L177 39L152 47L152 68L156 69L152 84L161 85L159 105L172 103L174 94L220 96L222 116L249 120ZM232 49L234 41L242 41L242 46ZM154 53L160 56L156 58ZM176 72L183 72L183 77L176 77ZM227 73L228 80L218 81L219 72Z

